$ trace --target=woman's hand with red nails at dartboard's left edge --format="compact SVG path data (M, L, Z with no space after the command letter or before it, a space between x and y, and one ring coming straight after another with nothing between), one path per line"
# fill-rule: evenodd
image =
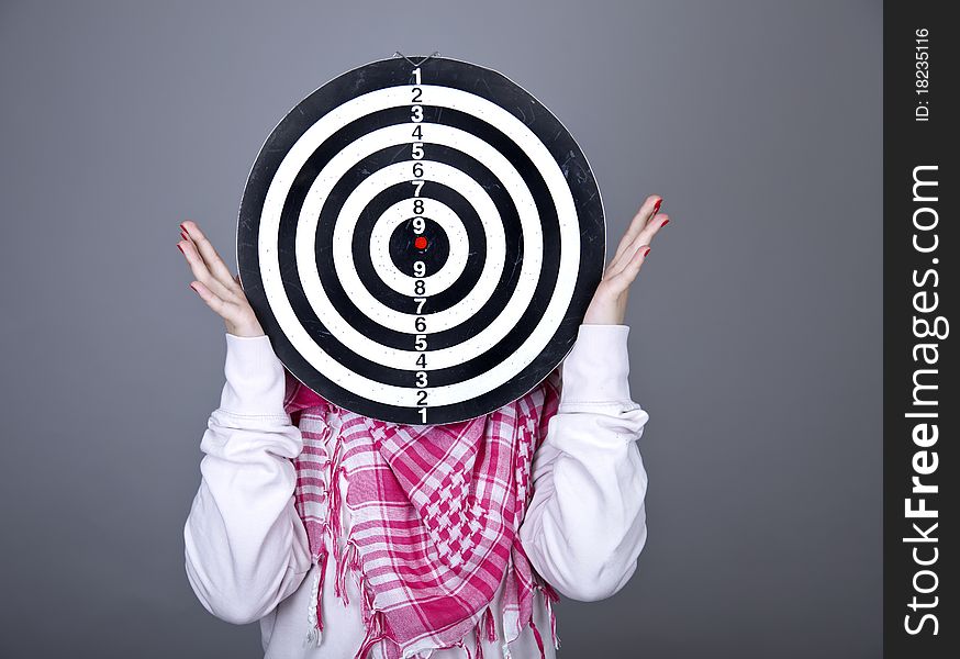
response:
M239 277L230 269L200 227L192 220L180 224L182 241L177 247L183 253L193 277L190 288L197 291L206 305L215 311L226 324L226 331L235 336L264 336L266 334L254 313Z

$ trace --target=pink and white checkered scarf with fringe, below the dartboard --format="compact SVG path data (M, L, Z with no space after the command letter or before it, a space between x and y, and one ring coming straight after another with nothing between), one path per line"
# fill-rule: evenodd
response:
M533 621L535 592L550 613L559 599L531 567L517 530L533 489L532 460L557 412L555 369L521 399L485 416L444 425L384 423L334 405L287 371L284 407L303 436L297 467L297 511L306 527L313 580L306 644L319 644L323 578L330 538L336 560L334 591L349 603L346 574L362 593L367 634L355 659L383 641L389 659L429 648L466 648L482 659L481 635L496 640L490 603L501 582L503 645L529 624L540 657L544 641ZM331 423L339 433L330 450ZM350 510L343 539L339 479ZM466 636L476 628L475 654Z

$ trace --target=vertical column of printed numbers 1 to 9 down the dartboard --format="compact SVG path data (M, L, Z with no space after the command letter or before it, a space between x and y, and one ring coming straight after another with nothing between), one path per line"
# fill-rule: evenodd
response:
M423 235L426 231L426 211L424 208L425 200L421 198L423 190L423 89L418 87L421 82L420 67L413 69L413 85L411 88L410 99L410 121L411 121L411 147L410 157L412 160L410 181L413 185L413 233L415 236ZM423 305L426 303L426 264L418 259L413 264L413 301L416 304L416 319L413 322L414 328L414 350L416 357L416 376L414 386L416 387L416 406L420 409L420 420L426 423L426 412L429 405L426 375L426 349L427 349L427 326L426 317L423 313Z

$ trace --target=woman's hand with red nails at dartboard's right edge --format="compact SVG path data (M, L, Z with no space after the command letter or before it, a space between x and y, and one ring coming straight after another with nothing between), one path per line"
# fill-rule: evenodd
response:
M621 238L616 254L603 272L603 279L593 293L593 300L583 316L585 325L623 325L626 316L630 283L650 252L650 242L667 224L669 217L659 213L663 200L651 194L637 211L634 221Z

